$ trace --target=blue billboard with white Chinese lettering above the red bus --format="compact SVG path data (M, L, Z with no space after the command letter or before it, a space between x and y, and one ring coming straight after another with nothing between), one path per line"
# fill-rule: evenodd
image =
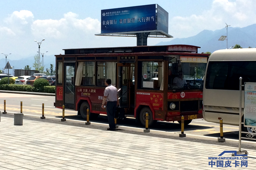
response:
M157 16L156 9L157 4L102 10L101 34L151 30L168 33L168 12L160 7Z

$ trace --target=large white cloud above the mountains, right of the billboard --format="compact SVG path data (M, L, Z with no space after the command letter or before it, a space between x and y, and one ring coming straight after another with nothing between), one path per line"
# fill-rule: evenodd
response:
M170 19L169 32L174 37L190 37L204 29L216 30L226 26L245 27L256 23L256 1L254 0L214 0L209 9L200 15L175 16Z

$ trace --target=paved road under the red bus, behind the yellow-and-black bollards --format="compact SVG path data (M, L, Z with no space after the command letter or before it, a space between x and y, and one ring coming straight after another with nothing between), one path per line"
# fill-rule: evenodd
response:
M47 117L61 118L62 110L55 108L55 96L40 96L30 94L8 94L0 93L0 111L3 111L3 100L6 100L6 111L8 113L20 113L20 101L23 102L23 114L25 115L42 115L42 103L44 103L44 115ZM66 119L84 121L81 116L76 116L77 111L65 110ZM96 123L108 124L107 117L101 115L97 120L91 121ZM135 119L126 119L118 121L118 125L144 128L140 124L136 124ZM157 122L152 130L160 130L170 133L180 133L180 125L177 122ZM224 125L224 137L227 139L238 139L238 126ZM201 119L195 119L185 127L185 133L192 137L216 138L219 137L219 124L206 122Z

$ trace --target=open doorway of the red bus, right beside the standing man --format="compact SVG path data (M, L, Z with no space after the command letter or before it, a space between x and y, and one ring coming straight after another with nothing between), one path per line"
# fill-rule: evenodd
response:
M120 106L123 108L128 108L129 111L134 111L134 63L117 64L116 84Z

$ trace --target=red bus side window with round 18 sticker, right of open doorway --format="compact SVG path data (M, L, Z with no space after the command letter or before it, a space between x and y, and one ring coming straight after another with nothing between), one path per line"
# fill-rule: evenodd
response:
M163 70L162 62L140 62L141 72L139 71L138 76L140 82L138 88L152 88L160 89L161 85L163 88ZM138 81L139 82L139 81ZM161 88L161 90L162 90Z

